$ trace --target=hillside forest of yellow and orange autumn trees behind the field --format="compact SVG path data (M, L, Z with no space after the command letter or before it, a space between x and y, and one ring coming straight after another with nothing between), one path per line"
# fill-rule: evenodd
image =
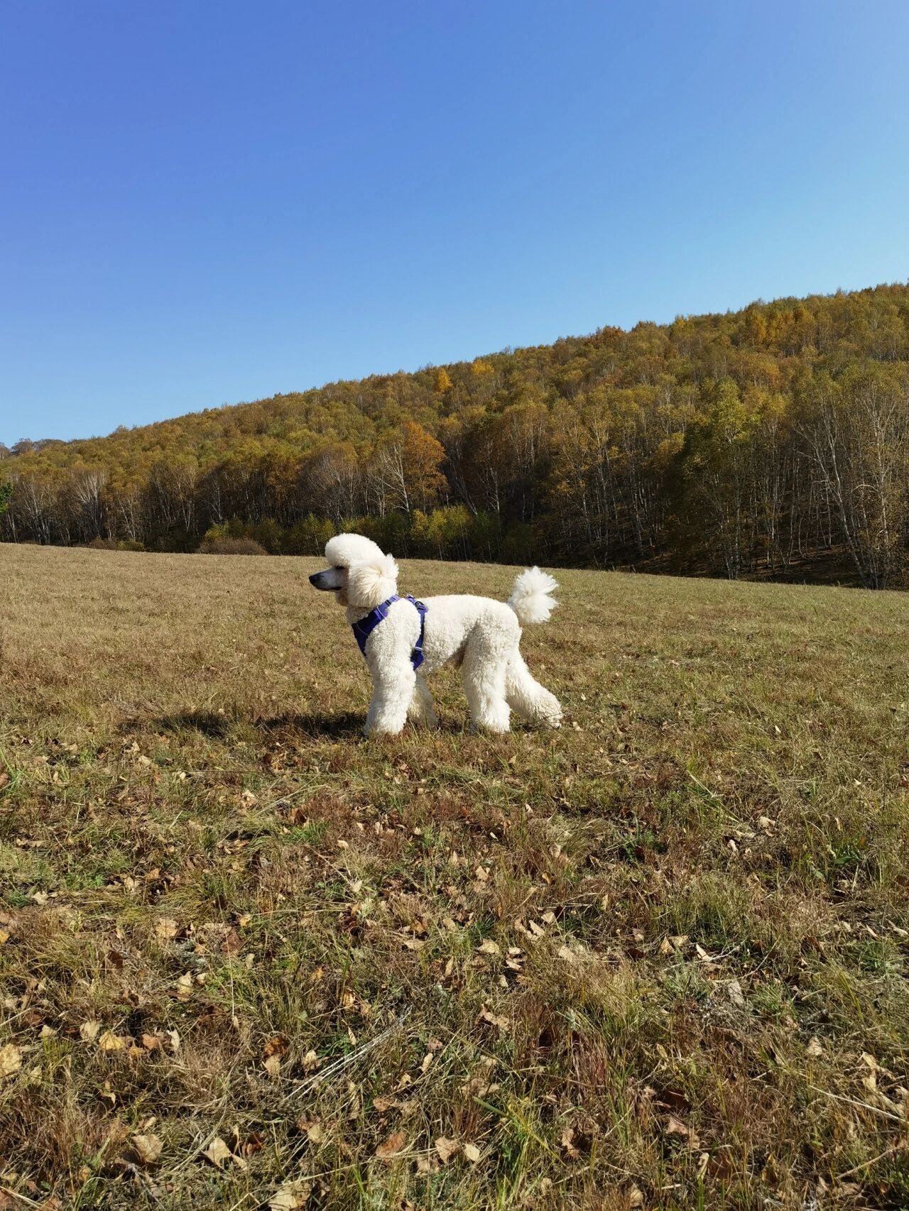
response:
M0 446L0 540L902 587L908 472L891 285Z

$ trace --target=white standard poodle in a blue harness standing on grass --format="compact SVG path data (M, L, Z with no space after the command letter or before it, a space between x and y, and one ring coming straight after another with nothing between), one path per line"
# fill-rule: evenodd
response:
M399 733L407 719L435 727L424 673L448 660L462 670L475 728L508 731L509 710L558 728L559 700L531 677L519 650L521 626L545 622L556 602L555 580L539 568L522 572L508 604L467 595L398 597L398 564L368 538L338 534L325 547L326 572L309 578L335 592L372 676L366 735Z

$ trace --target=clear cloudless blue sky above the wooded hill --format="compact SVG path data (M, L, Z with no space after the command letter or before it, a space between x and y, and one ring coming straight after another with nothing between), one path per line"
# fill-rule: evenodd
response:
M905 0L0 0L0 441L909 277Z

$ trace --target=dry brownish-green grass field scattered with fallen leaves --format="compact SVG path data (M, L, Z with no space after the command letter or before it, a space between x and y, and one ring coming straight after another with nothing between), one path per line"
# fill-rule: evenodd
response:
M0 546L0 1207L909 1206L909 598L564 572L560 731L364 741L316 566Z

